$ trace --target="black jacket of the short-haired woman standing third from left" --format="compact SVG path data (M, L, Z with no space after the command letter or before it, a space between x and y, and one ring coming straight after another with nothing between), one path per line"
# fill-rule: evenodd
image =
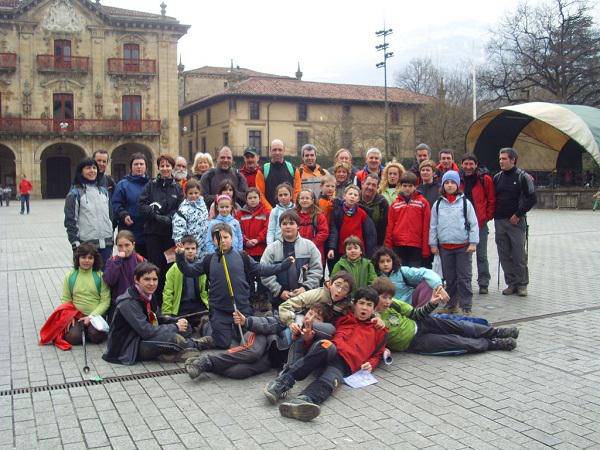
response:
M150 181L138 200L140 216L145 220L145 235L171 237L171 221L183 201L181 186L173 178L161 178L160 175Z

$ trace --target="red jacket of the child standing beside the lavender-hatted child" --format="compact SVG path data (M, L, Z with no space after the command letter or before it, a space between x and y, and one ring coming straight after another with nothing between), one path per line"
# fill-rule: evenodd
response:
M410 196L408 203L403 195L398 195L388 210L388 225L385 232L385 246L418 247L427 258L429 248L429 221L431 207L419 192Z

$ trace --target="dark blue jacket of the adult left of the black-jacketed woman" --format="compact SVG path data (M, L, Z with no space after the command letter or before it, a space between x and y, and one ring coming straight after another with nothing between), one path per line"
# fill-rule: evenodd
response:
M142 231L144 229L144 219L138 211L138 199L148 183L145 175L127 175L117 183L115 192L112 195L113 214L119 222L119 230L130 230L135 236L135 241L143 243ZM125 225L125 217L130 216L133 225Z

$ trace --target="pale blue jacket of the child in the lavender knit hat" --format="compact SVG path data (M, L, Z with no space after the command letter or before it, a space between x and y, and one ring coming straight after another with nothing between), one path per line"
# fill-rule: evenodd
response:
M431 205L431 222L429 224L429 245L439 247L439 244L475 244L479 243L479 225L475 208L467 200L467 222L470 230L465 228L463 214L464 194L458 194L454 203L446 197L441 197L439 214L437 202Z

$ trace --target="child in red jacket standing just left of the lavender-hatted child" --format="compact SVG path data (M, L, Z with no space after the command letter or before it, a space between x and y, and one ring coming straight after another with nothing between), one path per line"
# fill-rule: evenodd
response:
M429 221L431 207L417 192L417 176L406 171L400 177L401 191L388 211L385 246L393 248L403 266L421 267L429 258Z

